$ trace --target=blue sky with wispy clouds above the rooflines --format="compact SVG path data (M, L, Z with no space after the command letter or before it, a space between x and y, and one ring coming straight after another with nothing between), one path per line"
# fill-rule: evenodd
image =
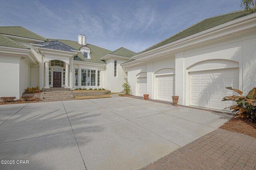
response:
M205 18L240 10L240 0L0 0L0 26L45 38L142 51Z

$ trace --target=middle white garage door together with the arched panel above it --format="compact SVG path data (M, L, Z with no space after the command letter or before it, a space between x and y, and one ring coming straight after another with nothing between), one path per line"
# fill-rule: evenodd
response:
M172 101L175 94L175 69L163 68L154 73L156 99Z

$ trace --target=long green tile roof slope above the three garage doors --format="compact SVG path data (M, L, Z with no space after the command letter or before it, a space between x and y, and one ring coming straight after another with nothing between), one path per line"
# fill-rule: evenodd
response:
M211 18L207 18L205 20L202 20L202 21L186 28L185 30L183 30L183 31L181 31L177 34L174 34L173 36L167 38L166 40L163 40L162 42L159 42L159 43L157 43L157 44L155 44L155 45L153 45L153 46L151 46L151 47L149 47L149 48L147 48L143 51L138 52L137 54L144 53L146 51L150 51L150 50L155 49L157 47L160 47L162 45L166 45L168 43L175 42L175 41L180 40L182 38L192 36L192 35L197 34L199 32L208 30L210 28L219 26L221 24L225 24L227 22L242 18L244 16L247 16L247 15L253 14L253 13L255 13L255 10L251 10L249 12L246 12L244 10L240 10L240 11L236 11L236 12L230 12L230 13L227 13L227 14L222 14L222 15L211 17Z

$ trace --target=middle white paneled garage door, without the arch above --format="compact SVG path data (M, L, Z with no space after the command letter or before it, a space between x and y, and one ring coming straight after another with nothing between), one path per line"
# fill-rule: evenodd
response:
M156 99L172 101L174 85L174 75L156 76Z

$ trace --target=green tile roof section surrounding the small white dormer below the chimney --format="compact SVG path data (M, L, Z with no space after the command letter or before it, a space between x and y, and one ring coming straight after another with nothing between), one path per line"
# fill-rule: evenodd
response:
M48 39L48 40L54 41L56 39ZM84 45L80 45L78 42L72 41L72 40L58 40L58 41L66 44L70 47L73 47L74 49L77 49L77 50L80 50L80 48L84 46ZM90 54L89 54L91 59L84 58L83 53L79 52L78 55L76 57L74 57L74 60L106 64L106 62L100 60L100 58L104 57L106 54L112 52L108 49L104 49L104 48L101 48L101 47L98 47L98 46L92 45L92 44L87 44L86 47L89 47L91 49Z

